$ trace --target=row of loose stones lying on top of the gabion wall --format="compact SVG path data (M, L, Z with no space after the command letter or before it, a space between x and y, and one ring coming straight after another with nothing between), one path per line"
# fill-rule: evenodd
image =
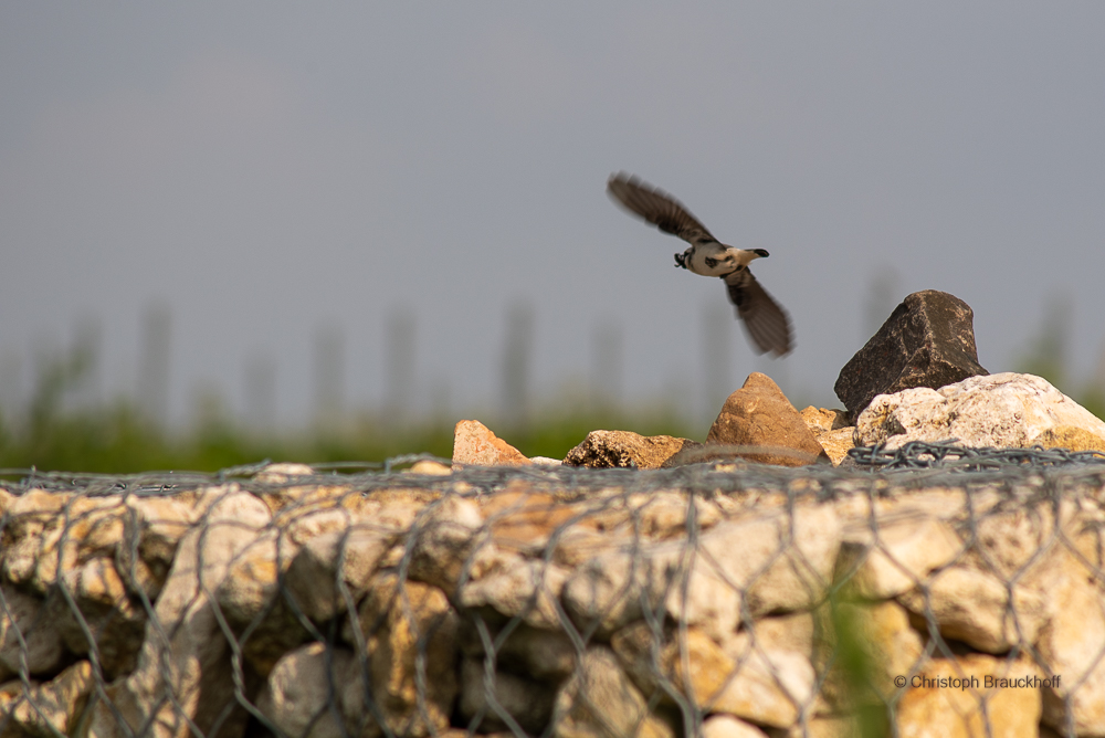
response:
M1031 375L989 375L978 362L974 313L943 292L914 293L840 371L844 409L799 412L754 372L729 396L705 444L667 435L592 431L562 462L526 458L478 421L461 421L453 465L564 463L666 468L719 458L804 466L848 460L855 445L909 441L970 447L1105 452L1105 422ZM855 419L855 422L852 422Z

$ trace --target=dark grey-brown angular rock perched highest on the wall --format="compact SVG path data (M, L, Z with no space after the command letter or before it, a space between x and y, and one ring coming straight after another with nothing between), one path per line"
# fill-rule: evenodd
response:
M990 373L978 362L974 320L970 306L954 295L913 293L840 370L836 397L859 418L876 394L914 387L938 390Z

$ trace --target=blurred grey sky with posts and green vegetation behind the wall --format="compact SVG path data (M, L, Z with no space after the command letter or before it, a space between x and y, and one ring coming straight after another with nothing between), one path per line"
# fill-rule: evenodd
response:
M908 293L1105 402L1105 4L0 6L0 465L560 457L839 407ZM765 247L797 349L615 208Z

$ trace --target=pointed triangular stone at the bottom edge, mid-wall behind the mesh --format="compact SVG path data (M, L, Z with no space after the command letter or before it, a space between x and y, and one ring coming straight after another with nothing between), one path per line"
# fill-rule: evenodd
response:
M674 738L649 711L646 697L618 665L613 652L591 646L560 687L552 717L556 738Z

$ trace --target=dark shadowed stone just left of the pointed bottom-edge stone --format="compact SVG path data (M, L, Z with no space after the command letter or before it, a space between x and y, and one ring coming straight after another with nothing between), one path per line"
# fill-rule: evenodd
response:
M494 702L488 700L494 695ZM498 670L487 683L486 662L465 658L461 663L461 715L465 723L483 710L478 730L509 730L505 716L517 723L532 736L540 735L552 717L556 689L516 674Z

